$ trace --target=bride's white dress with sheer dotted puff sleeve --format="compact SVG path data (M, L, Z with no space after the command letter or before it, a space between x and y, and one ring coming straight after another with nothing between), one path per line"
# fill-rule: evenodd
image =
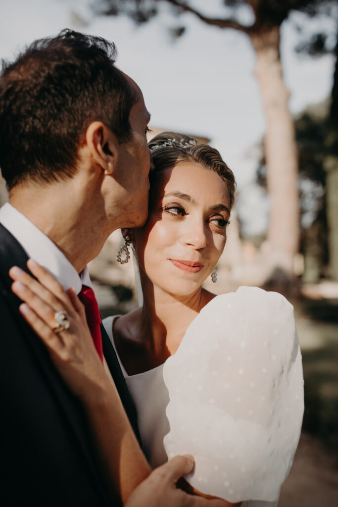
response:
M103 324L115 347L114 318ZM189 453L196 464L186 479L196 489L242 507L277 505L304 411L293 307L283 296L244 286L216 296L163 365L131 376L120 365L153 467Z

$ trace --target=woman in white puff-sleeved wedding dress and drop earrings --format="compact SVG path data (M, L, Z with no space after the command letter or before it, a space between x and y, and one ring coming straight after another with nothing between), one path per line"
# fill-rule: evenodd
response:
M198 456L189 478L197 490L254 500L252 507L276 504L303 414L291 305L257 288L215 297L202 287L215 278L226 244L233 173L216 150L181 134L161 134L149 147L155 171L148 221L123 231L124 251L132 243L138 261L143 305L104 322L134 397L145 454L157 466L167 454L190 452ZM51 322L46 308L34 310ZM46 328L30 323L47 341ZM55 363L78 395L84 382L92 389L88 368L80 365L73 380L62 357Z

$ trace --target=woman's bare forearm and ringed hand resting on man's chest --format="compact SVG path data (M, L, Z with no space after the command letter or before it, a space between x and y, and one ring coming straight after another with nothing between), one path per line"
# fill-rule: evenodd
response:
M28 269L11 268L13 292L24 303L20 312L48 348L70 389L85 406L102 462L102 474L124 502L151 472L142 453L118 391L96 352L87 326L85 309L73 289L63 287L31 259ZM64 311L69 328L55 333L55 312Z

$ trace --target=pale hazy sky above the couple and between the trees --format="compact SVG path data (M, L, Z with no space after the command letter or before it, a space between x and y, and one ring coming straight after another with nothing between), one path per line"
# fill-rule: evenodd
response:
M219 13L219 3L193 0L206 14ZM282 25L284 79L291 93L290 109L298 114L329 95L334 60L296 55L295 22L308 31L312 25L302 15ZM181 25L186 31L173 41L168 29ZM34 39L65 27L115 42L117 65L140 86L151 125L210 138L233 169L242 201L247 194L248 216L250 202L256 206L261 219L255 230L264 228L267 203L253 180L254 146L264 135L265 119L248 38L235 30L208 27L188 13L176 18L167 5L151 22L135 26L125 16L94 17L88 0L0 0L0 57L11 59Z

